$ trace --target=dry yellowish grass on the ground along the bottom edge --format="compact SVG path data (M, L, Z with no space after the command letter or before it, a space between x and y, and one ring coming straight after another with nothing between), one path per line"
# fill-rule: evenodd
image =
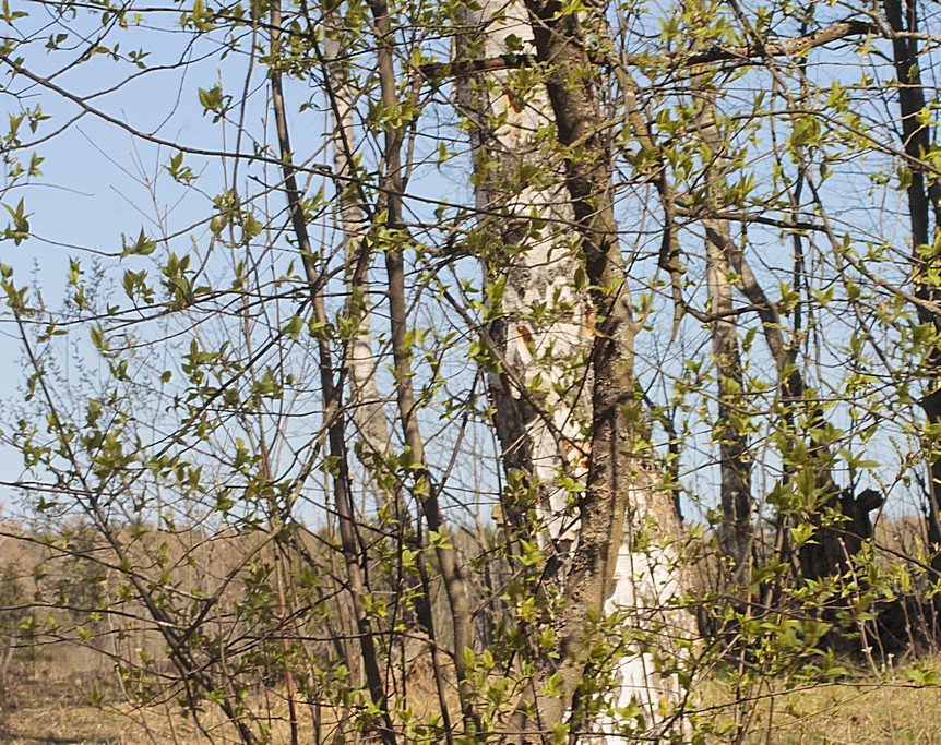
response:
M941 662L941 660L938 660ZM922 665L924 666L924 665ZM930 668L930 665L928 665ZM205 731L194 725L178 707L167 705L132 709L111 704L91 706L82 693L88 678L56 683L21 682L7 698L0 714L0 743L9 745L155 745L237 742L230 728L211 716ZM703 714L729 725L736 713L728 692L717 685L704 686ZM264 704L269 710L285 712L276 693ZM259 701L261 704L262 701ZM261 708L261 707L260 707ZM903 668L881 675L860 675L851 681L806 687L790 692L765 689L752 706L739 714L747 731L743 743L783 745L941 745L941 687L916 685ZM300 711L301 742L330 742L331 728L323 723L314 734L312 712ZM288 742L285 718L267 721L275 745ZM732 742L734 729L706 742Z

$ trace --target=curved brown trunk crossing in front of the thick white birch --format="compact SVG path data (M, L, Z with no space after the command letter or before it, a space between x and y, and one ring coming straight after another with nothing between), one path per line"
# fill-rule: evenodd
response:
M580 157L565 158L565 187L585 256L597 324L591 353L594 380L588 476L579 504L579 543L557 624L557 649L564 662L560 670L544 669L536 681L538 687L534 688L537 731L545 733L563 721L579 690L585 670L588 628L593 620L604 614L616 589L626 521L646 510L657 513L658 525L667 534L676 534L678 526L671 501L657 505L656 495L642 494L650 484L639 483L643 482L646 469L635 450L647 445L639 441L629 419L629 412L638 405L633 375L635 321L627 296L627 274L615 218L610 154L604 139L597 92L591 82L595 63L584 46L575 15L562 13L555 0L527 0L526 8L533 22L537 59L546 65L546 87L558 140L563 147L577 146L580 151ZM577 71L583 75L573 83L572 73ZM630 544L626 549L627 563L633 567ZM627 573L620 578L627 585L626 598L635 605L644 602L636 597L633 568ZM623 674L630 673L626 669ZM651 690L656 684L650 675L651 671L644 673L645 695L657 698ZM544 693L550 676L561 677L561 696ZM656 718L655 711L650 713Z

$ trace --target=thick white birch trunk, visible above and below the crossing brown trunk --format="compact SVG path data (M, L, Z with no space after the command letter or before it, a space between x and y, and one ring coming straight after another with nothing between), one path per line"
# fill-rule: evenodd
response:
M468 45L470 53L465 49L465 57L493 59L508 52L533 52L532 26L522 3L484 2L473 22L479 24L481 43ZM559 484L559 474L567 471L584 483L589 457L586 428L592 421L592 303L584 284L576 281L577 276L584 277L584 261L561 159L545 141L545 132L552 131L547 92L539 87L528 100L521 101L510 92L512 75L510 71L488 72L478 77L476 93L467 93L465 87L463 96L474 109L470 119L477 124L478 206L487 211L485 219L491 224L502 221L493 230L504 243L520 243L502 267L507 280L502 298L507 372L495 374L492 385L509 390L521 419L527 421L532 477L545 494L544 544L556 544L564 554L577 546L580 525L569 504L569 491ZM559 165L547 170L547 158L552 157ZM536 169L532 185L507 193L503 184L512 183L525 167ZM481 173L487 177L480 178ZM501 216L495 218L495 214ZM546 220L547 227L537 237L519 240L517 236L527 231L513 225L514 220L525 223L532 217ZM498 273L492 274L497 276L489 280L500 279ZM549 311L544 314L547 321L534 323L533 317L544 308ZM537 410L528 412L533 406ZM507 432L500 432L501 417L502 412L496 419L503 447L520 446ZM622 733L635 731L639 717L648 735L662 733L674 726L670 714L679 700L676 677L662 675L657 663L658 658L677 657L674 641L687 637L690 629L688 614L671 610L680 590L671 543L679 533L679 520L671 497L654 489L651 469L639 464L636 470L639 476L623 474L622 479L622 483L631 483L628 515L605 602L605 612L622 616L628 625L626 638L633 639L615 664L609 701L630 721L608 714L589 724L594 734L583 737L584 742L633 742L635 735ZM561 576L564 582L564 572ZM651 630L656 642L650 638ZM632 704L640 709L631 711Z

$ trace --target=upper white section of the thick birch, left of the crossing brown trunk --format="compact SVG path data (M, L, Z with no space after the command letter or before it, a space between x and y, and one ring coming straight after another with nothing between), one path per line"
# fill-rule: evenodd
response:
M485 4L473 23L478 24L495 10L505 9L481 37L475 50L484 58L509 51L508 37L532 36L520 3ZM551 124L551 109L545 92L524 104L510 91L510 72L502 70L478 79L477 92L462 96L473 107L478 131L474 133L475 157L497 164L492 177L478 183L477 205L490 215L489 225L500 241L517 244L519 252L505 266L496 267L505 278L502 305L505 312L504 362L511 373L510 395L524 409L526 437L533 472L540 485L539 514L544 524L544 548L564 553L576 530L569 508L569 493L559 486L562 473L583 478L587 453L582 433L589 388L585 381L589 351L589 315L584 293L574 278L581 262L571 231L572 209L558 172L544 187L525 187L516 193L505 189L504 179L545 167L545 147L539 132ZM466 82L465 82L466 83ZM486 88L486 91L484 91ZM545 135L541 135L545 136ZM496 217L500 214L500 217ZM533 218L545 220L537 235L526 235ZM558 313L550 322L535 320L539 309ZM491 373L491 386L507 380ZM504 443L504 447L508 446Z

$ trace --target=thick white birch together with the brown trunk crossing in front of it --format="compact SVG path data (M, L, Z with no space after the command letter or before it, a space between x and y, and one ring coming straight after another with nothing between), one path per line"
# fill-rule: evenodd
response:
M594 87L569 74L593 65L577 19L558 11L484 3L463 60L523 68L535 57L546 84L499 70L464 81L462 98L489 237L481 260L497 319L495 424L504 466L538 495L547 574L561 594L555 659L537 662L514 729L523 742L567 725L572 737L616 743L676 726L678 686L664 668L677 661L672 642L689 624L670 608L679 526L670 494L657 489L640 416L605 128ZM609 671L587 660L604 616L618 622L609 633L623 633ZM627 718L604 708L585 717L584 683L604 672L607 700Z

